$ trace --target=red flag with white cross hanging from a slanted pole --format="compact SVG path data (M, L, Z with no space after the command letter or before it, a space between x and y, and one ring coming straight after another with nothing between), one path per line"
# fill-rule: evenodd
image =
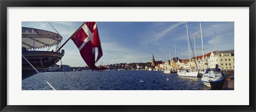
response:
M103 55L96 22L84 22L83 25L77 29L76 33L73 34L71 39L76 44L82 58L89 68L102 69L95 66L95 62L97 62ZM98 47L96 61L95 47Z

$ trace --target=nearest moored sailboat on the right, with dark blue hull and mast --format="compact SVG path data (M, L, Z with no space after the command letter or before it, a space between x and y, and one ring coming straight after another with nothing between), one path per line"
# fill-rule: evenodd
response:
M206 69L201 81L205 86L211 87L212 90L222 90L223 84L226 81L227 76L219 68L219 53L217 47L216 33L214 31L215 47L217 52L218 64L215 68Z

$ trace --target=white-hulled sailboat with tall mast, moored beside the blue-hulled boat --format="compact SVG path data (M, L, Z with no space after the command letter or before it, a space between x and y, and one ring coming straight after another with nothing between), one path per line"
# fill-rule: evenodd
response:
M188 23L186 22L186 26L187 26L187 37L188 37ZM188 56L189 56L189 70L179 70L177 72L177 74L179 76L185 76L185 77L197 77L198 75L198 71L191 71L191 65L190 65L190 47L189 47L189 37L188 37Z

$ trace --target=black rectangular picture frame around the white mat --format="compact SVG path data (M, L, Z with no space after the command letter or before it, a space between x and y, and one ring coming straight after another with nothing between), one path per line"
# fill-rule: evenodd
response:
M1 111L255 111L255 0L1 0L0 110ZM249 7L250 100L248 106L9 106L7 103L7 7ZM227 96L228 97L228 96ZM240 96L237 96L240 97ZM229 98L227 98L228 100Z

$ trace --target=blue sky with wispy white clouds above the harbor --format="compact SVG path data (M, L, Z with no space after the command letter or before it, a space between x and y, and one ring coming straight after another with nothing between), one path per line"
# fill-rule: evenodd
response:
M64 43L83 22L51 22L63 37ZM202 55L202 41L199 22L187 22L188 32L194 48L196 35L197 55ZM96 63L103 65L111 63L151 62L154 53L155 60L175 57L188 58L188 43L186 22L97 22L103 56ZM54 31L46 22L22 22L22 27L31 27ZM234 22L202 22L205 54L215 51L214 31L217 36L220 51L234 50ZM55 47L52 47L54 49ZM64 65L86 66L73 41L69 41L63 49ZM45 50L45 49L43 49ZM193 53L191 53L193 54ZM60 63L58 63L60 64Z

